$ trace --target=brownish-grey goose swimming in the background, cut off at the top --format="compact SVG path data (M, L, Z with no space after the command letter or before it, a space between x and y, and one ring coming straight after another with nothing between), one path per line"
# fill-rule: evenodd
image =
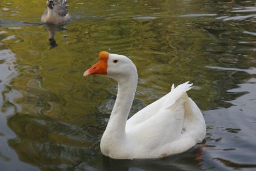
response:
M66 0L46 0L47 9L41 17L42 23L61 25L70 20Z

